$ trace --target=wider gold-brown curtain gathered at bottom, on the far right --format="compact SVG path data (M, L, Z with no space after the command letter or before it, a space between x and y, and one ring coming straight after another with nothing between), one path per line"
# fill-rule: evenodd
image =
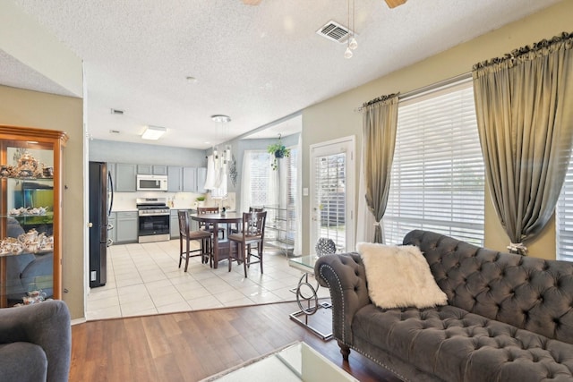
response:
M552 216L569 165L573 137L573 35L475 64L475 109L493 205L508 249Z

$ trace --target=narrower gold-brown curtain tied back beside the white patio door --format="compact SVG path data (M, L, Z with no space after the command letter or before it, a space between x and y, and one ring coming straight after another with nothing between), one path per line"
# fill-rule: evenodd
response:
M382 242L380 221L388 203L398 127L398 94L373 99L363 112L363 176L368 210L374 216L373 242Z

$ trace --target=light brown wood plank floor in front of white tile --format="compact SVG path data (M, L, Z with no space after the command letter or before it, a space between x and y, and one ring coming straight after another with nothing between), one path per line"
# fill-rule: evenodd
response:
M288 318L295 310L295 302L282 302L75 325L70 382L197 381L295 341L361 381L399 381L356 352L343 362L336 340L323 342ZM313 323L329 324L329 317L317 313Z

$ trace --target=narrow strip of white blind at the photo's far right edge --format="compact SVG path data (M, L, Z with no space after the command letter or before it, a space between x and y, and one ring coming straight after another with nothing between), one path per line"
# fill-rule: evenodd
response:
M573 160L557 200L557 259L573 261Z

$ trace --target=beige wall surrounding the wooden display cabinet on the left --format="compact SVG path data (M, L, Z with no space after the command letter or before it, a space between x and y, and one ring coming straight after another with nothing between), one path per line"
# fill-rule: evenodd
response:
M69 136L64 149L63 299L72 318L84 317L83 106L81 98L0 86L0 124L58 130Z

